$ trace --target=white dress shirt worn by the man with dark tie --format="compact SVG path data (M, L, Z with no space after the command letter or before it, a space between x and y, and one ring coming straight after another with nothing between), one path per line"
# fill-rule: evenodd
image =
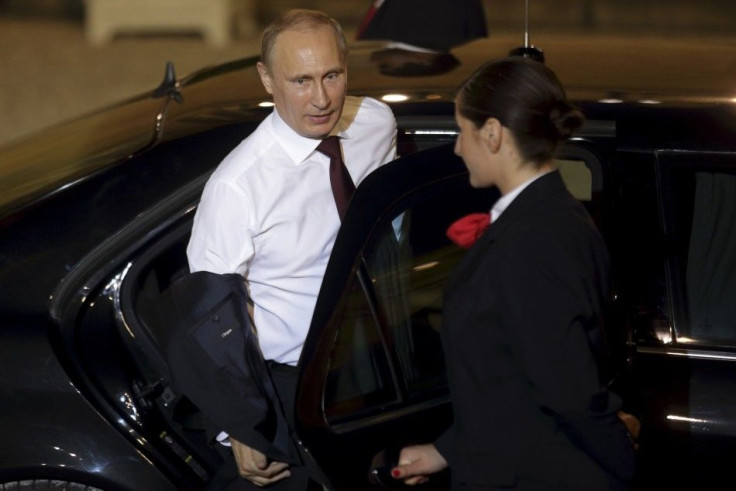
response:
M375 99L348 97L333 133L356 186L396 156L396 121ZM340 227L319 143L271 113L210 177L187 247L192 272L245 278L264 358L290 365Z

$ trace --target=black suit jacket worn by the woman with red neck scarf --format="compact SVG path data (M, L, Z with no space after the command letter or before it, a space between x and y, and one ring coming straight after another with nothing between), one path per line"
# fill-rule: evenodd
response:
M455 420L436 445L455 481L512 486L552 457L546 448L632 477L620 399L606 388L608 272L604 242L558 172L522 191L468 252L443 310Z

